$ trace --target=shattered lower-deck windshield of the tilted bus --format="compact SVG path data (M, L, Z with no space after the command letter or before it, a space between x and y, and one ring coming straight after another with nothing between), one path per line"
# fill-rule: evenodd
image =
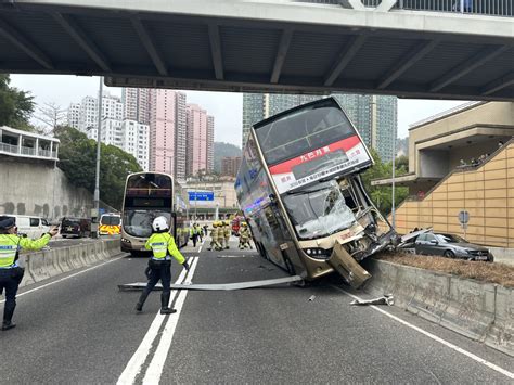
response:
M288 192L282 200L301 240L327 236L356 220L335 180Z

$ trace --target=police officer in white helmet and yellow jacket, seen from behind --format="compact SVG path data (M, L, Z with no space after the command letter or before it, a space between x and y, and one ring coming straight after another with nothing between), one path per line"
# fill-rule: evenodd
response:
M144 301L160 280L160 283L163 284L163 292L160 293L160 313L171 315L177 311L168 307L169 297L171 295L171 257L181 264L185 270L189 270L189 265L179 252L174 238L169 233L169 226L166 218L155 218L152 228L153 233L144 245L146 249L152 251L152 257L149 260L149 283L146 284L146 287L143 288L143 293L141 293L141 297L136 305L136 310L143 311Z

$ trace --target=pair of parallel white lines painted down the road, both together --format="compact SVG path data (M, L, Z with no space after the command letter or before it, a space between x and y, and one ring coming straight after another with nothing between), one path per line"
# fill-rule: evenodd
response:
M190 271L188 272L182 270L175 283L191 283L197 262L197 257L188 258L188 264L191 266ZM153 320L152 325L146 332L146 335L141 342L138 350L136 350L124 372L119 376L117 384L125 385L136 383L136 378L142 373L143 365L149 359L150 350L157 343L157 348L154 351L152 360L150 361L150 364L145 371L143 384L158 384L160 375L163 374L163 368L166 362L166 358L168 357L168 351L171 347L171 341L174 339L175 330L177 329L177 323L179 321L179 316L182 310L185 296L188 295L188 291L171 291L170 306L177 295L178 298L174 306L174 308L177 309L177 312L168 317L168 321L160 333L160 339L158 341L159 330L166 319L166 316L163 316L160 312L158 312L157 316L155 316L155 319Z

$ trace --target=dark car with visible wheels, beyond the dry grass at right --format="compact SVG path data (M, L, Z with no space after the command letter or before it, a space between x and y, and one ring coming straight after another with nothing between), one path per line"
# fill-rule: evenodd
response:
M415 253L425 255L441 255L447 258L467 260L494 260L487 247L475 245L463 238L453 234L424 233L415 240Z

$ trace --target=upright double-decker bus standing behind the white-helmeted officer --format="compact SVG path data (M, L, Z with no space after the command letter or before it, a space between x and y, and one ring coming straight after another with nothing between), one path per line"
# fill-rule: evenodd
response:
M152 222L164 216L177 246L188 243L187 191L167 174L136 172L127 177L121 221L121 252L132 255L147 253L146 240L152 234Z

